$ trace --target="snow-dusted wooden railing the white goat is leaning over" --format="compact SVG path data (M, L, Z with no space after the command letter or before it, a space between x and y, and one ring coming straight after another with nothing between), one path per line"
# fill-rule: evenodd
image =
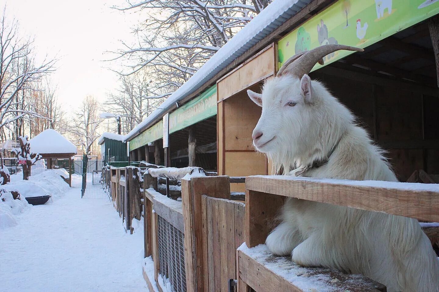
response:
M299 282L317 281L310 277L298 277L289 281L276 269L270 269L266 261L270 255L259 248L249 252L249 248L263 244L271 224L279 212L285 197L342 205L374 212L412 217L419 220L439 221L439 186L437 184L414 184L383 181L319 180L288 176L247 177L245 196L245 246L238 249L238 291L303 291ZM259 252L259 253L258 253ZM265 262L264 262L264 257ZM270 259L273 263L273 258ZM279 265L285 263L277 258ZM289 270L297 272L297 266L290 261ZM311 269L312 270L312 269ZM338 271L319 270L320 274L337 273L337 289L349 290L349 275ZM297 272L299 273L299 272ZM314 273L315 274L315 273ZM347 277L347 278L346 278ZM334 277L332 277L334 278ZM329 277L331 279L331 277ZM334 283L327 283L328 286ZM340 286L343 285L343 286ZM357 291L385 291L385 287L364 278L362 288Z

